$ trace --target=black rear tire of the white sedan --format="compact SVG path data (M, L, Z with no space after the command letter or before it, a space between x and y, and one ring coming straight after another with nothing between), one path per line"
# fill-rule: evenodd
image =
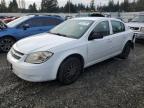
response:
M131 44L128 42L126 43L122 53L119 55L121 59L127 59L131 51Z

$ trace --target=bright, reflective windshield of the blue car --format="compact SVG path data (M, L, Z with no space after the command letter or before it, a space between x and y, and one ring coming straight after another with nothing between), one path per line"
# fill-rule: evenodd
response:
M23 16L23 17L20 17L14 21L11 21L9 23L7 23L7 26L8 27L16 27L17 25L21 24L22 22L28 20L30 17L28 16Z

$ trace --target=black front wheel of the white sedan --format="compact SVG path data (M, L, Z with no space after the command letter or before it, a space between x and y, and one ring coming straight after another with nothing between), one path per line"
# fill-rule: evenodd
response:
M82 70L83 64L78 58L67 58L59 67L57 79L64 85L71 84L79 78Z

